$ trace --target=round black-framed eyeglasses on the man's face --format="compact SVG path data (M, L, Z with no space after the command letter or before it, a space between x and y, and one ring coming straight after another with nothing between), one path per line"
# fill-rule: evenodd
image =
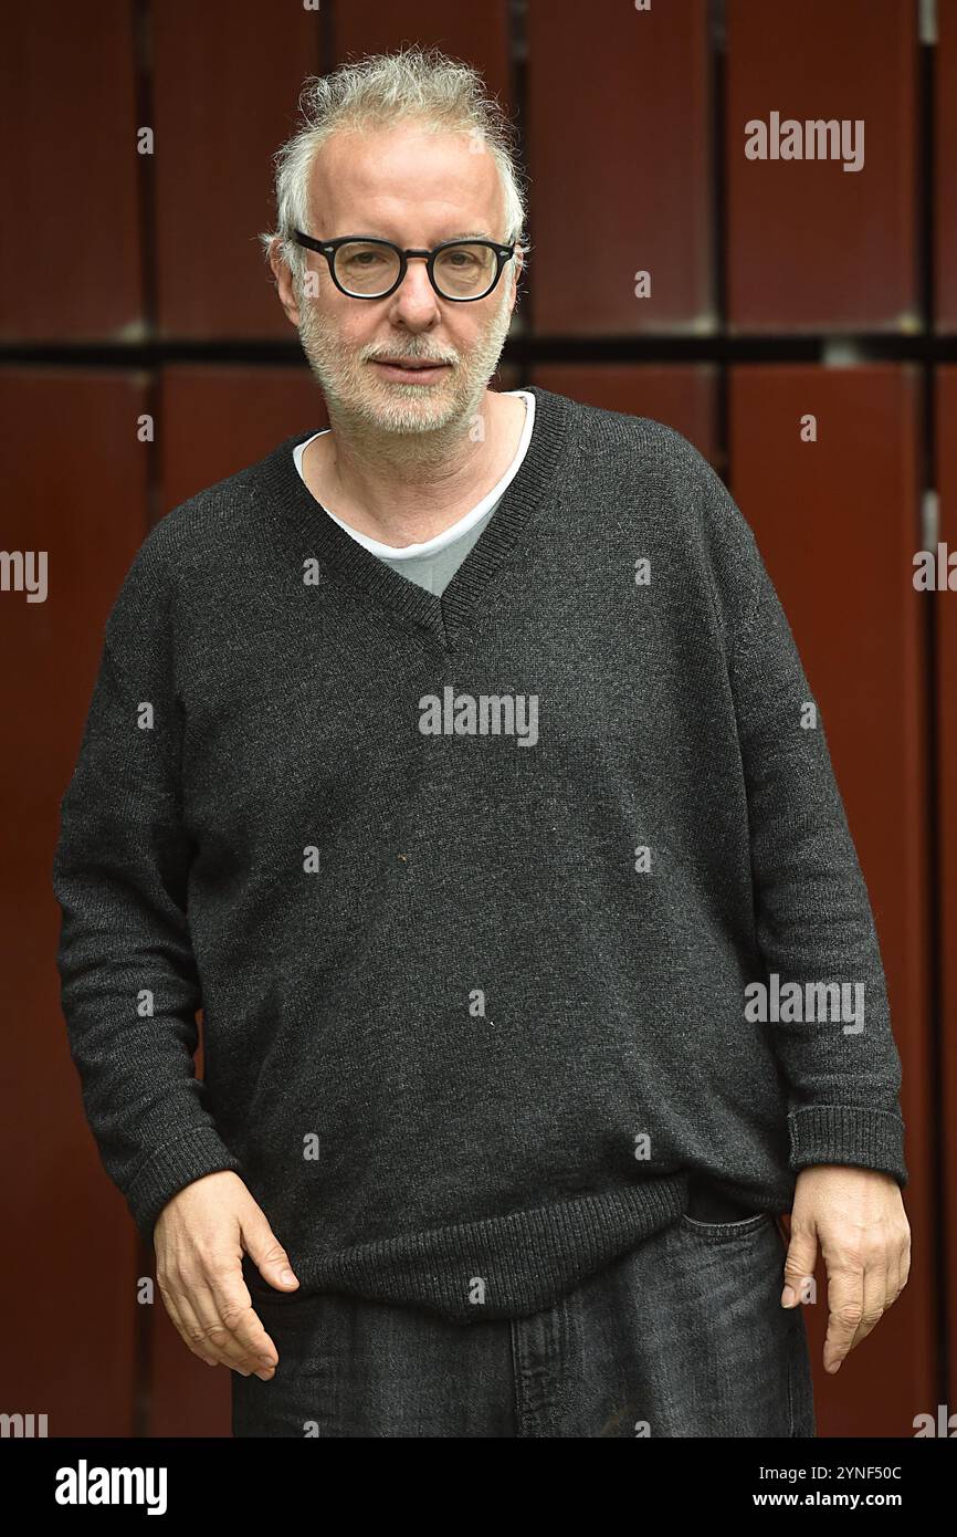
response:
M292 238L298 246L326 257L332 281L349 298L389 298L406 277L409 258L422 257L439 298L469 304L492 294L502 267L515 255L515 244L501 246L498 240L442 240L432 251L402 251L392 240L375 235L315 240L293 229Z

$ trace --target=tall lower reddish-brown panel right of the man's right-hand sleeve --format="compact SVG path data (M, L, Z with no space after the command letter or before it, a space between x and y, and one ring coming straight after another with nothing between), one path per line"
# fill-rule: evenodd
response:
M926 709L917 372L736 367L731 484L791 622L868 884L903 1062L914 1262L903 1296L836 1377L826 1280L808 1306L820 1436L912 1436L935 1405L929 1124ZM803 443L813 415L817 441Z

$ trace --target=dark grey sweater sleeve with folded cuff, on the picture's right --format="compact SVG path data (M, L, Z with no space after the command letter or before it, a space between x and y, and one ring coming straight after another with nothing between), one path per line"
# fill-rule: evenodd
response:
M845 984L851 1005L834 1019L830 1007L803 1002L797 1019L765 1025L788 1085L790 1167L854 1164L903 1187L900 1057L866 885L794 636L754 535L734 513L750 596L731 633L730 681L757 944L779 988L797 982L806 1001L808 985Z

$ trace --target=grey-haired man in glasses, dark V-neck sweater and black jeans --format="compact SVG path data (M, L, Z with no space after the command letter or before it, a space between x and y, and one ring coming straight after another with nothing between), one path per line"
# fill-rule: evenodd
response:
M677 432L488 389L473 71L315 81L277 200L332 429L143 543L54 871L169 1314L235 1434L813 1436L817 1247L831 1369L906 1282L900 1062L751 532Z

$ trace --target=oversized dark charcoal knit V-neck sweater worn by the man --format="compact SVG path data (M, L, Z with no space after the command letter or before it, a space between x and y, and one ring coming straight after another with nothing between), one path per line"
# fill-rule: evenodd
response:
M693 1174L767 1213L811 1164L908 1177L866 887L754 535L674 429L535 398L441 596L324 515L309 433L161 518L54 859L140 1230L230 1168L303 1290L459 1322L553 1305ZM862 1024L813 1007L830 984Z

